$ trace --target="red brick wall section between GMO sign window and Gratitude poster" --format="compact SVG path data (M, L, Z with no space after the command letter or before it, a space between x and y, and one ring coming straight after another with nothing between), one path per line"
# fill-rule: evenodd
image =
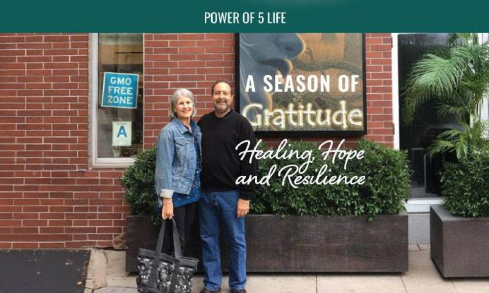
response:
M185 87L194 93L197 119L210 112L210 87L234 81L234 34L146 34L144 36L144 146L156 142L169 122L170 95Z

